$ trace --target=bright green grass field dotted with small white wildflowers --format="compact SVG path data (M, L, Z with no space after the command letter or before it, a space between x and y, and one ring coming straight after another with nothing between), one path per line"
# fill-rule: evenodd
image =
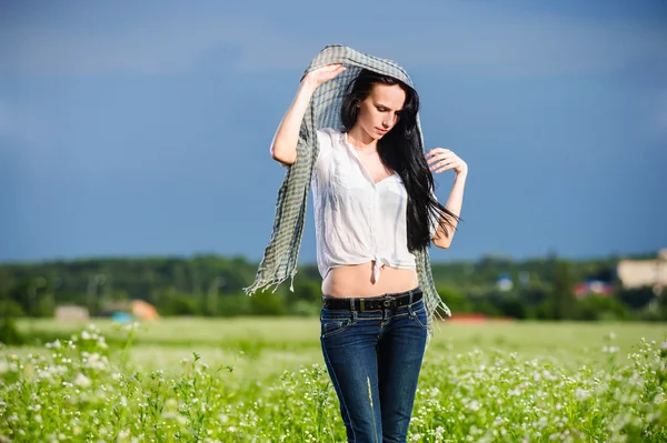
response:
M345 442L318 319L19 322L0 442ZM409 441L667 441L667 326L442 323Z

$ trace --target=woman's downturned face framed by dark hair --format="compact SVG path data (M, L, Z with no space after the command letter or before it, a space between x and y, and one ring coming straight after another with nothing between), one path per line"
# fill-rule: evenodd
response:
M370 94L357 103L357 125L372 139L381 139L398 123L406 93L398 84L374 84Z

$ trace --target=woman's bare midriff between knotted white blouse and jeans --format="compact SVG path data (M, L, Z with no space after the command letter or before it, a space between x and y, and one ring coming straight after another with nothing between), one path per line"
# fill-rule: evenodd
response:
M332 268L322 281L322 293L331 296L360 298L406 292L417 288L419 280L414 269L382 266L378 282L374 281L369 261Z

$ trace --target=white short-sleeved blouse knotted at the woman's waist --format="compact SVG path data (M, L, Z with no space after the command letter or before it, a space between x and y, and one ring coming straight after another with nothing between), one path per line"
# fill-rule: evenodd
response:
M408 193L394 173L375 183L347 133L317 131L319 154L312 173L317 264L325 279L331 268L375 261L374 276L388 265L415 269L408 251ZM430 223L430 238L438 220Z

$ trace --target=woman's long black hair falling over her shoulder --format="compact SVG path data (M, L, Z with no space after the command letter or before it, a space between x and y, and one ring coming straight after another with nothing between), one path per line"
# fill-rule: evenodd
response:
M419 95L414 88L394 77L362 69L348 85L341 103L340 118L345 131L348 132L357 123L359 112L357 103L370 94L376 83L398 84L406 93L406 102L398 123L378 140L378 154L386 168L400 175L408 192L407 236L408 250L412 252L430 244L431 217L438 218L447 236L450 235L449 230L455 229L452 220L458 221L459 218L431 195L434 177L428 168L417 131Z

